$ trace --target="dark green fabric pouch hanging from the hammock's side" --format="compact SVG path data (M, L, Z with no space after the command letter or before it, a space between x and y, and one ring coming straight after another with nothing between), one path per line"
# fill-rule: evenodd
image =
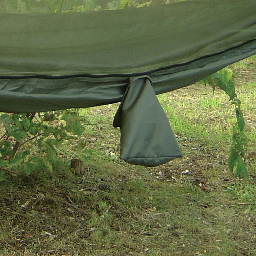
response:
M151 167L182 157L148 76L130 78L113 126L120 127L125 162Z

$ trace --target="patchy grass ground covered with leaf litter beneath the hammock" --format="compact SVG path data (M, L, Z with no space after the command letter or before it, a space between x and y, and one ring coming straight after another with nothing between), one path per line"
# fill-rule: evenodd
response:
M231 69L255 152L256 57ZM151 168L124 163L112 128L118 104L81 110L85 132L63 151L87 149L83 176L65 159L53 172L0 183L0 256L256 255L256 161L245 159L249 181L227 169L228 97L194 84L158 98L184 157Z

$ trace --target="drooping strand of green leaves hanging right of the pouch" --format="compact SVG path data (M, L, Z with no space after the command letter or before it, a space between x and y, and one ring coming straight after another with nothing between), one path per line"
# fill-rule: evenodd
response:
M223 68L217 73L203 79L201 82L205 85L210 84L213 92L216 86L225 91L225 93L229 95L231 105L235 107L237 122L232 128L232 145L230 147L230 155L227 159L227 164L232 173L234 170L236 171L235 176L242 174L243 177L248 179L248 171L243 159L246 154L246 139L244 134L245 121L241 111L241 101L237 98L235 93L233 72L229 68Z

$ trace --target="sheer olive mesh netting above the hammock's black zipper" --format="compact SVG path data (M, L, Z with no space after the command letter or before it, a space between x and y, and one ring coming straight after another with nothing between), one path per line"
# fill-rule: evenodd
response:
M1 14L0 76L134 74L256 38L256 0L192 0L123 10Z

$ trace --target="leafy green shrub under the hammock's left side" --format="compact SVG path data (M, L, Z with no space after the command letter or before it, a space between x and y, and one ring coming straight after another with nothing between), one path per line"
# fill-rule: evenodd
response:
M4 180L4 171L30 174L32 170L48 169L52 172L54 166L60 165L63 141L82 134L82 121L84 118L78 115L77 109L2 114L0 181Z

